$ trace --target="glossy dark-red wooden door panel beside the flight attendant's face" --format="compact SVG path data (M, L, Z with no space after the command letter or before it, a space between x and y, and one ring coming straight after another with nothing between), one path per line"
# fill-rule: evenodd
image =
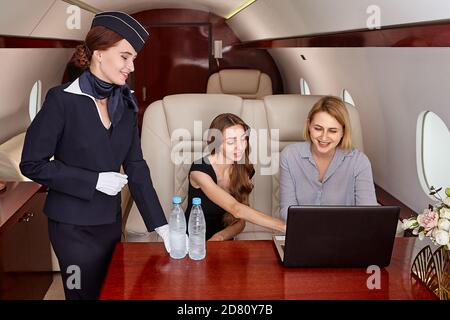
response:
M152 41L135 61L139 123L154 101L171 94L206 92L210 69L210 24L154 25L149 32Z

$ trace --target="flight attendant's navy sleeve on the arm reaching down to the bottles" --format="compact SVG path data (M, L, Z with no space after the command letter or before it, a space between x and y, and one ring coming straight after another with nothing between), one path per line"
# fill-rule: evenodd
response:
M167 224L164 211L153 187L150 170L142 155L141 141L135 123L133 141L123 163L128 186L147 230Z

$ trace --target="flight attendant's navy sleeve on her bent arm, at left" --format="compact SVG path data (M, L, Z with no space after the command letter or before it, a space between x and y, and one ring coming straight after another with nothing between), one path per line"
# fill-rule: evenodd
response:
M20 170L33 181L84 200L91 200L98 173L50 160L64 131L64 109L51 89L42 109L28 127Z

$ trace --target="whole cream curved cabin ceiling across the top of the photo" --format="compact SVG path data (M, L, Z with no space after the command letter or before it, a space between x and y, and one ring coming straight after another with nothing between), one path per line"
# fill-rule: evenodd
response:
M96 11L136 13L184 8L227 17L248 0L15 0L0 1L0 34L83 40ZM81 10L81 29L61 28L67 7ZM377 12L379 13L377 13ZM256 0L227 24L241 41L367 29L378 14L380 26L448 20L448 0ZM20 21L17 24L16 21Z

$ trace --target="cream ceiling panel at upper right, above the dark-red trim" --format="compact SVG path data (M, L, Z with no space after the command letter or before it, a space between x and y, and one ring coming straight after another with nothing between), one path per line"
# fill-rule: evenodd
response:
M241 41L366 29L376 5L380 25L448 19L448 0L258 0L228 20Z

